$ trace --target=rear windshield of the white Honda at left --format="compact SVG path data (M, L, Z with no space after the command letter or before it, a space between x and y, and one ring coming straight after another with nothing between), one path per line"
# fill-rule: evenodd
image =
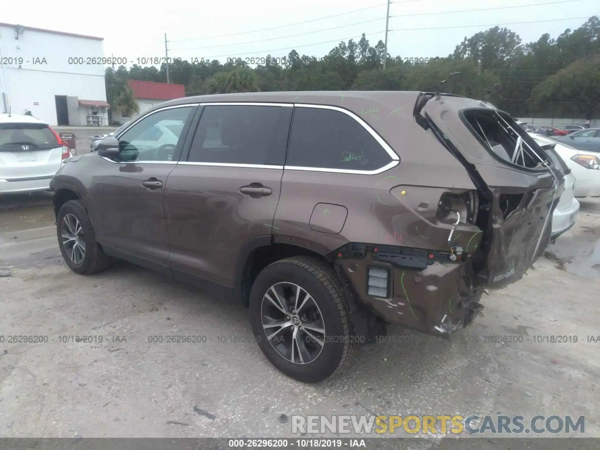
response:
M58 139L46 124L0 124L0 151L47 150L59 147Z

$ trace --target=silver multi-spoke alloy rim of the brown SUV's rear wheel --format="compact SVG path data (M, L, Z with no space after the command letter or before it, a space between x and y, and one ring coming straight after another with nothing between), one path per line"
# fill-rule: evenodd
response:
M325 323L313 297L294 283L269 287L260 307L266 337L277 352L294 364L314 361L325 344Z

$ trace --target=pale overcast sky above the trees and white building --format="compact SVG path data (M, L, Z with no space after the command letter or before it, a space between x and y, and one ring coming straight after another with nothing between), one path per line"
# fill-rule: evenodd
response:
M1 22L103 37L104 56L130 62L164 56L164 33L171 57L223 62L227 57L287 56L292 49L321 57L363 32L371 45L385 37L385 0L62 0L52 8L47 0L1 2ZM447 56L464 37L493 25L512 29L523 43L546 32L556 38L600 14L600 5L598 0L397 0L389 14L388 52L431 58ZM328 16L335 17L322 19ZM271 29L257 31L266 28Z

